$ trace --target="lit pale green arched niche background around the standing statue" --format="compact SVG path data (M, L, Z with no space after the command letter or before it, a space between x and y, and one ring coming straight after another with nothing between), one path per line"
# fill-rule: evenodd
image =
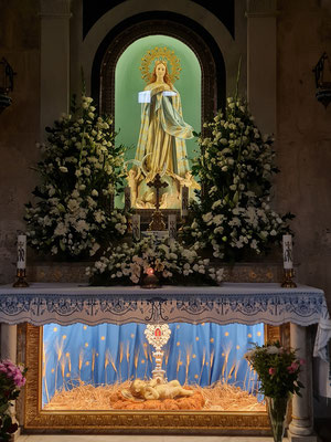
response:
M115 128L117 144L129 147L127 159L132 159L140 129L141 105L138 92L146 82L139 70L141 59L157 46L167 46L180 59L181 74L174 83L181 94L183 117L196 133L201 130L201 69L193 51L180 40L167 35L150 35L135 41L119 57L115 72ZM194 156L196 138L186 141L188 158Z

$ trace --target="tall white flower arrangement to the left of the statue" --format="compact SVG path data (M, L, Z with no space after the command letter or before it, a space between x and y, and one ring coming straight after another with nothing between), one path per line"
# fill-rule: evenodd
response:
M26 204L29 243L39 252L63 257L94 255L100 244L120 238L127 219L110 204L125 178L122 146L115 146L111 119L97 116L93 99L73 99L71 114L46 127L39 145L41 185Z

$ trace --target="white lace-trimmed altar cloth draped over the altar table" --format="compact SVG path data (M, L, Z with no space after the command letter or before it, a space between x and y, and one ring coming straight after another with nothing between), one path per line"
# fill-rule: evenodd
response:
M223 283L217 287L93 287L33 283L26 288L0 286L0 323L178 323L300 326L318 324L314 356L325 358L331 337L323 291L306 285L281 288L276 283Z

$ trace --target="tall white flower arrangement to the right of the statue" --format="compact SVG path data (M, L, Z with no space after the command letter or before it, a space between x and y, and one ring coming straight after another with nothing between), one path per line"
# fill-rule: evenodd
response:
M269 206L271 177L278 171L274 138L260 134L238 98L227 98L225 110L204 127L210 136L199 138L201 154L192 170L209 190L192 204L184 239L202 249L212 245L213 255L226 261L267 252L289 231L292 218Z

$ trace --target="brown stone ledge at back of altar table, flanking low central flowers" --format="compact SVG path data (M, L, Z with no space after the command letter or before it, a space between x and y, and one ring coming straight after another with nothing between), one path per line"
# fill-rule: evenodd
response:
M86 267L93 263L35 262L28 266L28 281L39 283L87 284ZM224 269L224 282L233 283L280 283L282 266L275 262L237 263L234 265L213 265Z

